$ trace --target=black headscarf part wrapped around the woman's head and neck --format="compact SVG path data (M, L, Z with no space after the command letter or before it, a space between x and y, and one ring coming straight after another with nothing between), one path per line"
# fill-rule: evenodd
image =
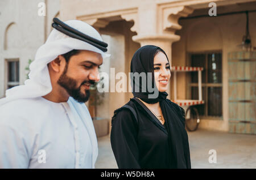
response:
M137 82L134 76L131 76L131 87L133 89L133 95L134 97L141 98L142 101L147 102L148 104L155 104L156 102L165 100L168 96L167 92L159 92L158 88L155 84L155 76L154 76L154 57L156 53L163 52L165 55L166 53L159 48L158 46L154 45L146 45L139 48L133 55L133 58L131 59L131 75L134 72L138 72L138 74L141 74L141 72L146 73L146 87L144 87L143 83ZM168 60L168 57L166 55L166 58ZM168 60L169 62L169 60ZM152 73L152 78L147 76L147 72ZM148 86L152 89L148 89ZM136 92L135 89L138 88L139 92ZM151 90L154 91L152 92ZM146 92L143 92L145 91ZM156 98L149 98L148 95L152 95L153 93L158 93L158 97Z

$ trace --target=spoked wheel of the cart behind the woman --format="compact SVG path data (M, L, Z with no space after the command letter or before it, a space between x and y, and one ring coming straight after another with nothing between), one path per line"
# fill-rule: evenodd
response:
M196 108L189 106L185 113L185 123L188 131L195 131L200 123L199 113Z

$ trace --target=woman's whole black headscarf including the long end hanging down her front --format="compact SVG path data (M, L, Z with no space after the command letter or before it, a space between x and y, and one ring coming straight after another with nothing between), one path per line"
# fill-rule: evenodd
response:
M152 85L155 91L158 91L155 85L154 78L154 56L158 51L164 51L153 45L142 46L135 52L131 59L131 72L152 72ZM166 53L164 53L166 55ZM167 55L166 55L167 57ZM167 58L168 59L168 58ZM150 79L147 79L150 80ZM170 146L170 168L191 168L188 135L185 130L184 109L168 100L166 92L159 92L157 98L148 98L150 92L142 92L141 83L136 83L134 78L131 79L134 97L139 97L144 102L154 104L159 102L162 109L163 117L166 120L166 127L168 131L168 143ZM134 86L139 87L139 92L134 92Z

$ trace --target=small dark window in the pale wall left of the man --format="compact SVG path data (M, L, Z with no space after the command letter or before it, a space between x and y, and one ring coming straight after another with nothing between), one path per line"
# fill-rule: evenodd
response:
M19 85L19 60L7 60L7 89Z

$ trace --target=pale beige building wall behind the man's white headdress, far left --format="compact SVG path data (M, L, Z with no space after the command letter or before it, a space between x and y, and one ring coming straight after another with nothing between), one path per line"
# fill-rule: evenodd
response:
M39 16L38 4L46 3L46 15ZM7 88L6 59L19 59L19 84L26 80L28 59L44 44L52 18L59 12L59 0L0 1L0 98Z

